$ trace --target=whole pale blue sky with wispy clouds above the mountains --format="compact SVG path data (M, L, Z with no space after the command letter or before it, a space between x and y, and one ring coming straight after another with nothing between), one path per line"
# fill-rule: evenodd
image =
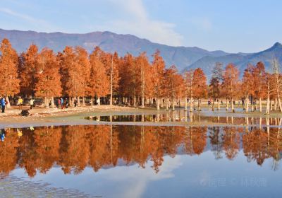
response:
M173 46L258 52L282 41L279 0L1 0L0 28L109 30Z

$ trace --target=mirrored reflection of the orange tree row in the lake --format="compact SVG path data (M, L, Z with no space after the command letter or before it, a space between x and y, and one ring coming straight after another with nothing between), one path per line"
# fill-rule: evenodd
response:
M156 126L68 126L6 129L0 143L0 173L24 168L33 177L59 166L65 174L79 174L90 166L100 168L137 163L158 173L164 156L201 155L213 151L216 159L233 160L240 149L247 161L262 165L281 159L281 129L256 127L156 127Z

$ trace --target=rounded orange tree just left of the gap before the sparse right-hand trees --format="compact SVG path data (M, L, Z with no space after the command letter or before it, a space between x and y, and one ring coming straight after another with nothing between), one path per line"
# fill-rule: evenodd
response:
M197 68L193 74L192 89L195 98L198 100L198 110L201 110L201 98L207 97L207 77L202 69Z

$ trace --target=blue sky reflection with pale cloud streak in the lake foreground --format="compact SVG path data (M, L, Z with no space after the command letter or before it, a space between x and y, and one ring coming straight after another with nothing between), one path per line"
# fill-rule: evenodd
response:
M54 167L31 180L103 197L280 197L282 174L279 168L271 170L272 163L272 158L262 166L247 162L243 151L232 161L215 160L214 153L206 151L200 156L164 156L157 174L149 161L145 169L137 164L102 168L97 173L85 168L78 175L64 175ZM19 168L11 175L26 177Z

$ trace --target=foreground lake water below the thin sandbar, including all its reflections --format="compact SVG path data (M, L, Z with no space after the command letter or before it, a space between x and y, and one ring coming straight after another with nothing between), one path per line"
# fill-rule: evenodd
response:
M281 197L281 130L2 129L0 197Z

